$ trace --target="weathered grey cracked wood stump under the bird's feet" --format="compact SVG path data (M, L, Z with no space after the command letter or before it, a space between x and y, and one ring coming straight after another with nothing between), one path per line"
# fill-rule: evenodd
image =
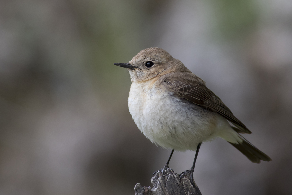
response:
M202 195L195 182L195 187L192 186L189 176L180 179L172 169L163 171L163 174L157 172L151 178L151 183L154 186L152 189L136 184L135 195Z

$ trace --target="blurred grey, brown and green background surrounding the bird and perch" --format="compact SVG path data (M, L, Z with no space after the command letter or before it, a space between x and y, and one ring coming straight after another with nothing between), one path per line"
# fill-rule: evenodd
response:
M158 46L207 82L272 162L201 146L202 194L292 194L291 0L0 0L0 194L134 194L170 150L128 112L113 63ZM194 152L175 152L182 172Z

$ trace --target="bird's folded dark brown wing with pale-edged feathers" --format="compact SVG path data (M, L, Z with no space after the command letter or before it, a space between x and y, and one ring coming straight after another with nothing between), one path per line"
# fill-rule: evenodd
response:
M189 79L180 76L164 77L162 84L174 95L220 114L235 126L232 128L238 133L251 134L251 131L232 114L220 98L205 86L203 80L193 74L188 74L188 77Z

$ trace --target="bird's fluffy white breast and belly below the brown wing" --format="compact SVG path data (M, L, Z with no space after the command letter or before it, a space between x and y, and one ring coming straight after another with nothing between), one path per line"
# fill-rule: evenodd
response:
M229 126L216 113L166 94L155 85L144 86L145 83L132 83L129 111L139 130L159 146L178 151L196 150L198 143L213 139L214 132Z

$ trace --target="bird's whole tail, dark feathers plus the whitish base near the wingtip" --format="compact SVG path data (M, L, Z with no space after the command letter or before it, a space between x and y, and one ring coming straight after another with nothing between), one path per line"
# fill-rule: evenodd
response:
M226 139L227 137L223 138L228 141L232 146L237 148L241 153L244 154L251 162L253 163L260 163L260 161L272 161L272 159L267 156L265 153L260 151L256 148L253 144L249 141L244 139L240 134L235 132L229 132L229 138L233 137L233 139Z

